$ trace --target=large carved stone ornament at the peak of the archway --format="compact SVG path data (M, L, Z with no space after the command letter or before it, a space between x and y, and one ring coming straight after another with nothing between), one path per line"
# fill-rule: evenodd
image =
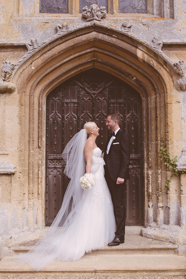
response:
M82 8L82 18L86 18L86 21L91 20L98 20L101 21L102 18L105 18L107 16L106 8L101 6L98 7L97 4L92 4L90 8L88 9L87 6Z

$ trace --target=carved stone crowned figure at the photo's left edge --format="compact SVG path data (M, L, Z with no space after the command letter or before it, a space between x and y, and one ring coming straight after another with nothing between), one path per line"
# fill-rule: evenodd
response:
M16 90L15 84L10 82L14 68L14 64L8 61L3 62L1 70L2 78L0 78L0 93L13 93Z

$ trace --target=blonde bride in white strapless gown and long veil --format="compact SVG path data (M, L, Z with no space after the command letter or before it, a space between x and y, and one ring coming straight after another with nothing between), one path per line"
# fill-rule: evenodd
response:
M30 263L38 271L55 259L78 260L113 240L116 224L104 178L105 163L95 143L98 135L95 122L87 122L66 145L62 154L64 174L71 180L60 211L46 235L27 254L19 254L16 261ZM86 173L94 175L95 184L84 190L79 179L85 174L85 166Z

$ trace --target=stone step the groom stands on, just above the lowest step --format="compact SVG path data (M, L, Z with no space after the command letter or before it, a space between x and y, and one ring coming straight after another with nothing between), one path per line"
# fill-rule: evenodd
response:
M21 246L14 246L10 249L14 253L28 252L33 242L27 242ZM130 255L130 254L176 254L176 244L142 237L140 235L126 235L125 243L119 246L109 247L105 245L103 250L92 251L92 255Z

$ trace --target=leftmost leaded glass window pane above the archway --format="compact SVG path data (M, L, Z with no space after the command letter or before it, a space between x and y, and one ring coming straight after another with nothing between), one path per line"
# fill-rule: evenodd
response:
M68 13L68 0L40 0L40 13Z

